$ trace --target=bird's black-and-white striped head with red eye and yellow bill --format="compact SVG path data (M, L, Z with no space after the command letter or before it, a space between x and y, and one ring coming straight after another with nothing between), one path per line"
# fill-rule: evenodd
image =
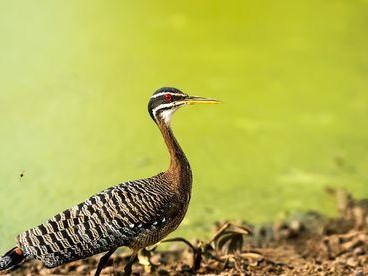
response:
M163 87L155 91L148 102L148 111L156 123L170 125L172 114L180 107L192 104L216 104L218 100L189 96L179 89Z

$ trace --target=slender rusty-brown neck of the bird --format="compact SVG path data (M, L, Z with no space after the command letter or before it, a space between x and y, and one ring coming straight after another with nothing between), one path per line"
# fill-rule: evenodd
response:
M167 173L174 177L173 182L175 186L181 186L178 188L190 190L192 185L192 171L188 159L176 140L171 127L164 122L159 122L158 126L170 154L170 167Z

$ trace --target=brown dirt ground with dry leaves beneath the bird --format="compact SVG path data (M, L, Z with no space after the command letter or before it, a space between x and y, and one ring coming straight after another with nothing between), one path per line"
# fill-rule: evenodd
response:
M141 252L134 275L368 275L368 199L336 195L339 217L296 214L270 225L216 223L210 241L165 241ZM162 247L161 247L162 248ZM31 261L11 275L90 275L101 255L54 269ZM102 275L122 275L129 253L112 256Z

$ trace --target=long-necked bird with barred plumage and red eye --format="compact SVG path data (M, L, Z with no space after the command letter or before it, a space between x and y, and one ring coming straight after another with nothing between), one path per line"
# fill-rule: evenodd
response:
M107 188L20 233L16 246L0 257L0 271L33 258L53 268L104 253L95 272L100 275L111 255L124 246L132 250L124 267L124 274L130 275L139 250L173 232L183 220L191 198L192 170L173 134L172 115L183 106L217 103L220 101L190 96L173 87L156 90L149 99L148 112L169 152L168 169Z

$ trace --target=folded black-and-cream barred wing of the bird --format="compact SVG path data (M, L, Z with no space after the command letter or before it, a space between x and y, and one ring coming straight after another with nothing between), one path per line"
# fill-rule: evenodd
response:
M47 267L129 246L143 231L167 222L172 198L164 185L153 185L152 179L104 190L21 233L19 245Z

